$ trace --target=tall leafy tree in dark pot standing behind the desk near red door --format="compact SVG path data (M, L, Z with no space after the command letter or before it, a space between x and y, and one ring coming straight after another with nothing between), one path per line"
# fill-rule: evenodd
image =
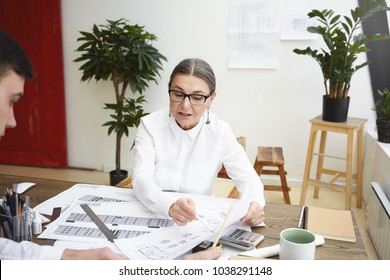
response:
M107 20L105 25L94 24L92 32L80 31L80 34L77 41L82 45L76 51L81 56L74 62L83 62L79 68L83 73L81 81L110 80L114 86L116 102L104 107L113 113L103 126L108 127L108 135L116 134L115 170L110 172L110 183L116 185L128 176L126 170L121 170L122 136L128 136L129 128L138 127L140 118L146 115L143 92L150 81L158 83L166 57L152 46L157 40L154 34L146 32L143 26L128 24L123 18ZM126 96L128 88L134 98Z

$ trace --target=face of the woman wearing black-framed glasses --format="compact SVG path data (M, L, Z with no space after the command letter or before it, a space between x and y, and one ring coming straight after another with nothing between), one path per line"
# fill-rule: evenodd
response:
M196 76L184 74L178 74L173 78L170 90L185 94L200 94L206 97L210 94L210 89L205 81ZM216 93L200 105L193 105L187 97L181 102L170 99L171 115L182 129L191 129L199 123L204 111L210 108L215 95Z

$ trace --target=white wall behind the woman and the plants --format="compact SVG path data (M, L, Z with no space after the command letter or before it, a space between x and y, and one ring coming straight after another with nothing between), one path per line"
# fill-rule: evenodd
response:
M356 0L279 0L280 17L306 15L311 9L332 8L349 13ZM107 137L108 111L113 102L109 82L81 83L79 31L107 19L126 18L144 25L159 40L155 46L168 58L159 85L146 91L147 112L168 105L167 84L174 66L187 57L208 61L217 76L218 96L212 111L231 124L234 133L245 135L253 162L259 145L282 146L290 182L301 180L310 130L309 119L321 114L323 84L319 66L294 48L322 45L312 41L280 41L279 67L275 70L227 68L228 1L226 0L65 0L62 1L65 93L69 165L108 171L114 165L115 137ZM361 58L365 59L365 57ZM350 116L367 118L366 129L375 129L368 68L359 70L350 89ZM135 131L123 140L122 165L131 169L130 146ZM329 136L328 146L344 153L344 137Z

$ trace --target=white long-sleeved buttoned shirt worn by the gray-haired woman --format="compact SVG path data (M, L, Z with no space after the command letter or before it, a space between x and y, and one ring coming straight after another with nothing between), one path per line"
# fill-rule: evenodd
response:
M176 201L169 192L211 195L222 164L241 197L264 207L264 186L230 126L210 113L190 130L181 129L168 109L141 119L135 137L133 188L150 210L168 215ZM165 192L163 192L165 191Z

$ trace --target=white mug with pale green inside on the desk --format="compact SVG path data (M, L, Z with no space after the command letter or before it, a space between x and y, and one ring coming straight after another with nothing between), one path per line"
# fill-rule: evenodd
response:
M281 260L314 260L315 250L315 235L308 230L288 228L280 233Z

